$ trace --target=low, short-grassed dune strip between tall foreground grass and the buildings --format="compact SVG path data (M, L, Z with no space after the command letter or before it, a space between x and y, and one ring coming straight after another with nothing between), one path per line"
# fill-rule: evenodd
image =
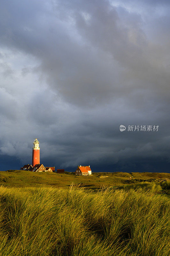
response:
M28 172L11 170L0 172L0 185L8 187L27 187L27 186L53 186L56 188L68 188L72 183L83 186L86 189L95 190L103 186L121 186L134 176L134 182L144 180L170 180L170 173L154 172L99 172L92 173L92 176L75 176L72 173L57 174L54 172Z

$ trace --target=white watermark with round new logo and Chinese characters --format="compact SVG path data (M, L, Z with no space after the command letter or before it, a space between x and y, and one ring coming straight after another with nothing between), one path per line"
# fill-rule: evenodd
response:
M128 132L158 132L159 125L128 125ZM126 130L126 126L120 124L120 132L124 132Z

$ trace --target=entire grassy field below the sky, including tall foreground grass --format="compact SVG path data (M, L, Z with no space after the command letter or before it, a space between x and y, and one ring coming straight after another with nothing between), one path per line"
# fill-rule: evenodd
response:
M1 172L0 256L169 256L170 174L131 176Z

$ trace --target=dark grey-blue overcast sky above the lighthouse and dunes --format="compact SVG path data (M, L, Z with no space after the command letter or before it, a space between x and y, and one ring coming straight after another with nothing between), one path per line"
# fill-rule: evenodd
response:
M170 172L169 14L169 0L1 0L0 170L31 164L38 138L45 166Z

